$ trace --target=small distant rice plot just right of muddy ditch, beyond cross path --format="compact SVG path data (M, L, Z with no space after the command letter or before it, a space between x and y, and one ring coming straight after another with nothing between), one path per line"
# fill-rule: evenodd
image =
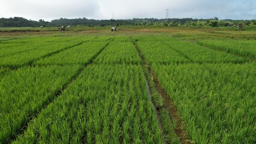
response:
M180 53L176 52L174 49L171 49L160 41L138 41L136 44L149 64L174 64L189 62L189 59L180 55Z

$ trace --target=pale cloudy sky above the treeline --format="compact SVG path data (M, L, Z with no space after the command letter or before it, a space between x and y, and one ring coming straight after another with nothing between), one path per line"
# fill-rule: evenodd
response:
M0 17L256 19L256 0L0 0Z

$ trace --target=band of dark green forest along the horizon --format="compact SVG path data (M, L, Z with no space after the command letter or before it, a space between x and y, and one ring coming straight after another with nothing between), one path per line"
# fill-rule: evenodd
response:
M218 17L213 19L125 19L125 20L94 20L94 19L55 19L46 22L42 19L27 20L23 17L1 18L0 27L50 27L50 26L120 26L120 25L142 25L142 26L236 26L236 25L256 25L256 20L219 20Z

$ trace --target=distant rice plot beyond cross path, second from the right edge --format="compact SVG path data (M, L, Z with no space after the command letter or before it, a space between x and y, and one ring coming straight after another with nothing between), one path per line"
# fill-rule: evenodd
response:
M248 58L243 58L240 56L234 56L226 52L220 52L207 47L199 46L195 43L189 43L187 41L180 41L172 37L155 37L159 41L167 44L171 49L175 49L180 53L186 55L189 59L194 62L208 62L208 63L245 63L248 62Z

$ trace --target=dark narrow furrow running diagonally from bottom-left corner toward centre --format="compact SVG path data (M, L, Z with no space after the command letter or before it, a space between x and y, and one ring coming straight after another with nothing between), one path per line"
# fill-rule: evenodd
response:
M91 59L89 62L83 64L83 67L79 68L79 70L76 72L76 74L74 74L70 80L68 80L68 82L64 83L64 85L61 86L61 89L56 89L56 91L53 93L52 98L49 98L48 101L46 103L43 104L43 106L41 107L41 109L37 110L37 113L31 113L31 115L29 115L25 121L25 124L22 124L22 128L18 131L16 131L16 134L15 136L11 136L9 139L8 139L8 142L7 143L11 143L12 141L16 140L17 137L19 135L22 135L25 133L28 125L30 122L33 121L33 119L37 118L38 114L41 112L41 110L45 109L47 106L49 106L50 103L53 103L53 101L56 100L56 98L59 97L59 95L62 94L63 91L65 91L65 89L68 88L68 86L73 83L78 77L79 75L82 73L82 71L84 71L88 65L91 65L93 64L93 61L94 59L97 58L97 56L100 55L100 53L102 53L102 51L109 45L110 42L106 43L105 46L102 47L102 49L99 50L99 52L97 52Z

